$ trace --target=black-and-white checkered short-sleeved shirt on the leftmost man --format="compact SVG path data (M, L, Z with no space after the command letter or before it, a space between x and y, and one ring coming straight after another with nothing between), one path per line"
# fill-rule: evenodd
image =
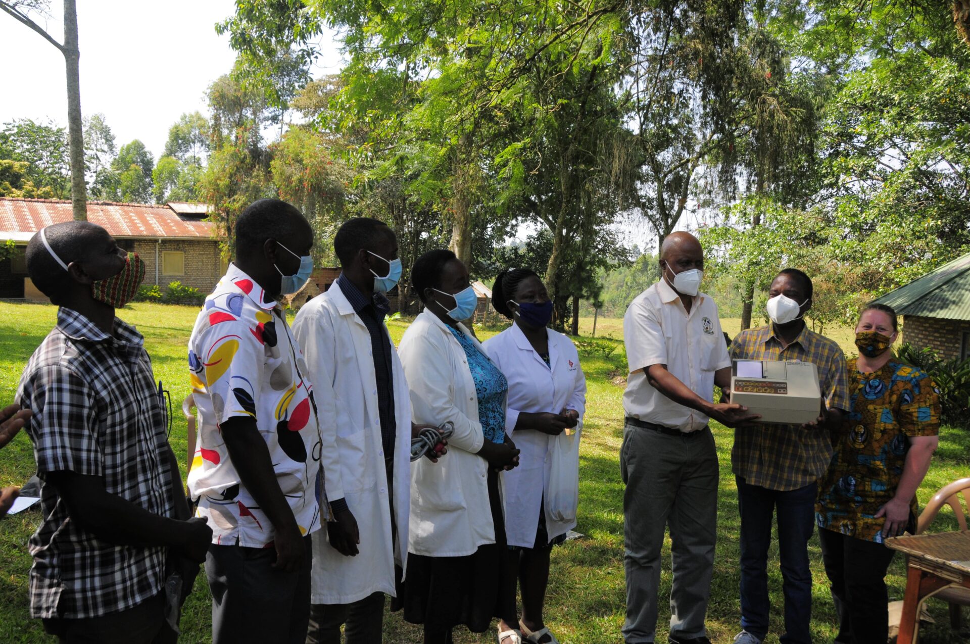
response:
M164 416L144 341L117 318L112 337L62 307L20 377L16 402L34 412L26 432L41 478L43 519L28 543L35 618L97 617L162 589L165 548L114 545L83 531L46 480L54 471L100 476L109 494L173 516Z

